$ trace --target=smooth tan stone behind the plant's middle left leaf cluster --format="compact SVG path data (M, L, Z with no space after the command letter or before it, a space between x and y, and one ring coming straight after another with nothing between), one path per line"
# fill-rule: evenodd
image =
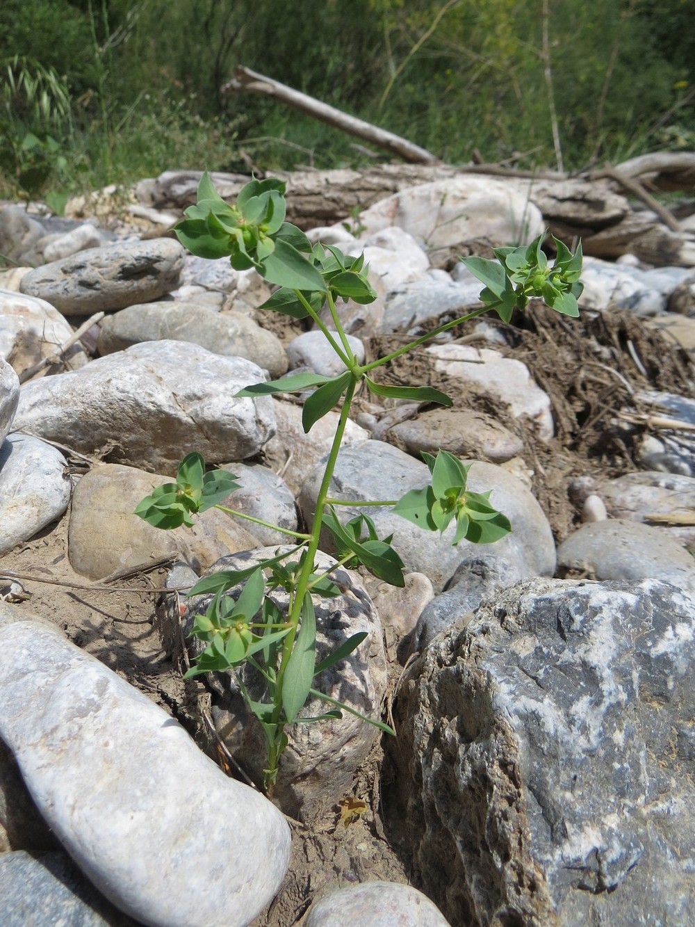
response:
M101 464L82 476L72 497L68 552L76 573L103 579L172 556L197 573L225 553L258 547L257 538L218 509L194 517L195 527L164 531L133 514L168 476L121 464Z

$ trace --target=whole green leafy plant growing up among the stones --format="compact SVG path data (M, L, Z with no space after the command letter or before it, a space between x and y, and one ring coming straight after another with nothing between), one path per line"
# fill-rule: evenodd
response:
M312 246L303 232L284 221L284 214L282 182L252 180L241 190L236 203L230 206L217 194L205 174L198 187L196 206L186 210L183 222L176 228L183 245L197 256L210 259L228 256L234 268L255 267L268 282L278 285L276 292L260 308L296 318L310 318L321 329L346 368L334 377L289 375L267 383L252 384L236 393L237 397L247 398L313 390L304 402L304 430L308 432L323 415L341 405L338 424L323 471L310 531L302 533L279 528L295 541L288 551L278 551L260 565L210 575L191 590L194 595L212 593L213 598L206 614L195 619L193 634L206 646L196 666L186 675L234 670L246 663L265 680L267 698L259 702L251 698L240 675L236 674L247 705L265 732L268 743L265 785L269 792L272 792L278 763L288 743L288 726L340 717L341 711L356 714L347 705L335 702L313 686L317 675L344 660L365 637L364 634L354 635L321 663L316 663L312 594L332 595L338 591L331 578L335 567L322 572L316 566L322 528L333 537L338 564L360 565L386 582L404 585L403 563L391 545L392 537L379 538L368 514L360 514L343 524L337 510L341 505L355 503L334 499L330 495L331 478L356 391L364 388L377 397L423 400L449 406L449 397L433 387L385 386L373 379L373 373L406 351L490 308L509 321L514 306L523 309L529 298L543 296L558 311L575 315L575 297L581 291L581 285L577 283L581 251L577 249L572 255L561 242L556 241L558 258L550 268L541 250L542 236L528 248L499 248L498 261L464 259L469 269L486 285L481 294L484 306L439 326L378 361L360 364L340 323L336 302L342 298L369 303L375 298L363 256L350 257L338 248L324 248L320 243ZM327 328L319 314L324 304L328 307L335 331ZM490 543L511 530L507 518L490 504L489 493L474 493L467 489L468 468L456 457L444 451L439 451L436 456L424 454L423 457L432 474L428 487L412 490L400 500L357 504L393 506L398 514L415 525L440 533L455 523L453 544L463 539ZM176 482L155 489L137 506L136 514L156 527L190 525L192 515L211 506L241 514L221 505L221 500L236 488L234 476L226 471L206 473L200 455L188 454L179 468ZM243 591L236 601L225 594L242 582ZM267 594L278 587L289 593L286 614L281 614ZM319 717L300 715L310 696L330 705ZM381 730L392 732L381 721L364 719Z

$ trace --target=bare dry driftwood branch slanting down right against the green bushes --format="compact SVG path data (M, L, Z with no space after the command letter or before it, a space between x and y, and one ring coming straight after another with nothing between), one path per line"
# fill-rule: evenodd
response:
M386 132L369 122L356 119L354 116L348 116L347 113L341 112L340 109L329 107L328 104L322 103L313 96L302 94L298 90L293 90L284 83L273 81L272 77L266 77L255 70L250 70L240 65L236 69L236 77L229 83L225 83L221 88L222 94L251 92L273 96L281 103L294 107L300 112L307 113L314 119L328 123L336 129L347 132L350 135L356 135L365 142L372 145L385 148L391 154L398 155L406 161L415 164L438 164L439 159L432 152L425 150L417 145L413 145L405 138L399 135Z

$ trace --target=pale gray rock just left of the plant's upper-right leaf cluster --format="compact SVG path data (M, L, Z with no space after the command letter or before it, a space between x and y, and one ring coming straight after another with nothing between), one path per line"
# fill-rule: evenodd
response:
M419 333L423 322L441 316L455 319L480 306L480 281L456 283L430 277L392 287L386 297L384 318L379 331ZM442 320L447 321L447 320Z

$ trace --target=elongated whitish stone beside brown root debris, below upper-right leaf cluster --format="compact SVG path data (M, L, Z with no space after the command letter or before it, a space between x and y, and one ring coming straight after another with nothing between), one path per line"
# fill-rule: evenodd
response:
M552 438L550 397L537 387L524 363L503 357L498 350L470 345L433 345L425 350L434 359L437 373L468 381L508 405L516 418L532 426L538 438Z

